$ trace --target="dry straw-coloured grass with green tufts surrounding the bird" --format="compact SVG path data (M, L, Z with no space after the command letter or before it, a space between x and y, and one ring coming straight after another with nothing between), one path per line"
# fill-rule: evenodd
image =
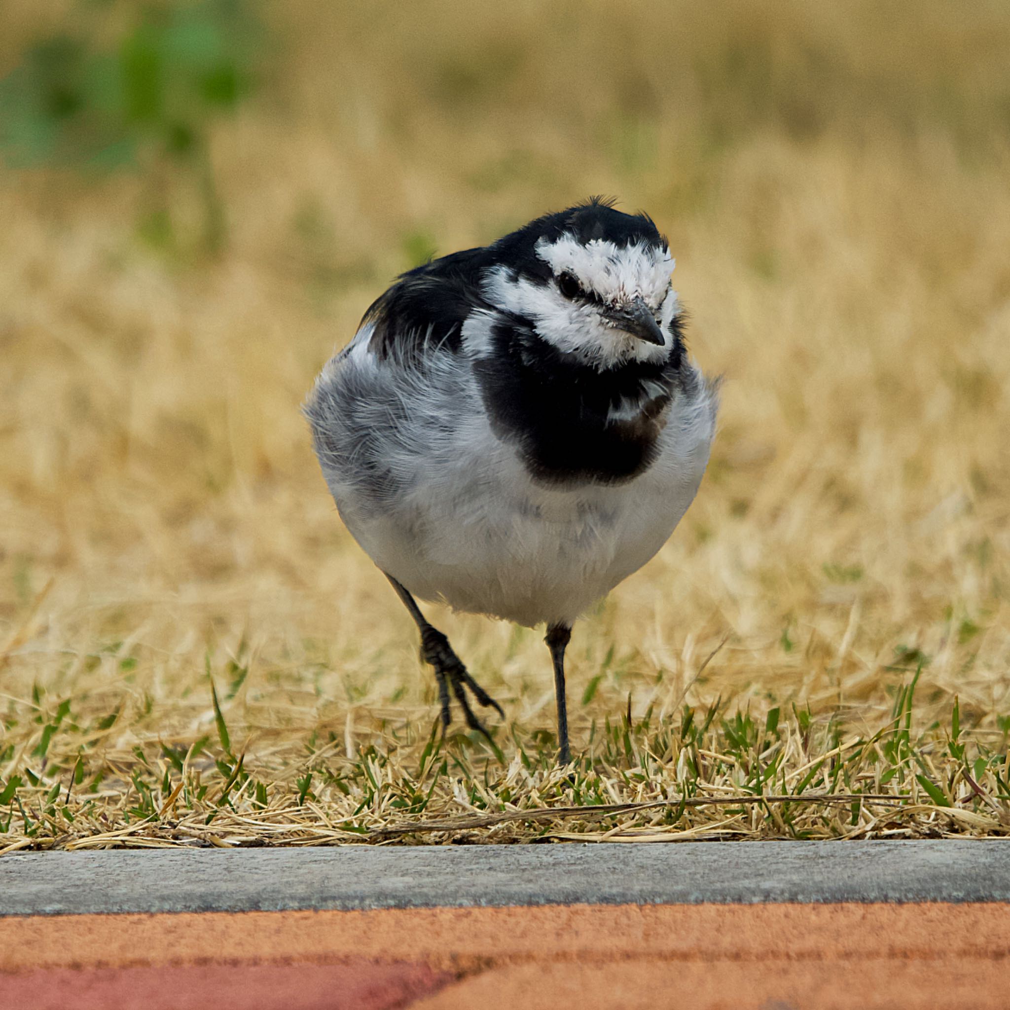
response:
M799 786L912 805L610 823L1010 823L1005 5L0 16L0 850ZM396 273L592 193L669 235L727 382L698 501L577 628L573 792L534 632L433 608L508 723L425 748L298 407Z

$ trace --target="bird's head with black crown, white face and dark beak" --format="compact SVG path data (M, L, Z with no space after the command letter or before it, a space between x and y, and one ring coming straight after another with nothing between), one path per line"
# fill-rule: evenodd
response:
M674 261L647 215L594 199L537 218L492 250L487 300L528 319L559 350L601 370L675 350Z

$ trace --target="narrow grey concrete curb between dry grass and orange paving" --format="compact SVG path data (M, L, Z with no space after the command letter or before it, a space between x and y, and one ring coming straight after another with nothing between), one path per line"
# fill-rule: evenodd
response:
M0 858L0 916L1010 903L1010 840L155 849Z

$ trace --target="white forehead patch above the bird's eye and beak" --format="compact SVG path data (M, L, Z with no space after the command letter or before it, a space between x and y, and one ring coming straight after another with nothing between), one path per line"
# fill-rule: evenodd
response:
M582 244L574 235L556 241L541 238L536 255L549 265L554 277L572 274L585 291L610 305L628 302L636 295L658 308L670 289L676 264L667 249L652 245L615 245L602 238Z

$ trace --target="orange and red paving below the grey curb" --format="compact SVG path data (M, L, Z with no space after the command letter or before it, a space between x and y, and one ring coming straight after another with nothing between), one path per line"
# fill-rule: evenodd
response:
M996 1010L1008 955L1003 904L27 916L0 1007Z

